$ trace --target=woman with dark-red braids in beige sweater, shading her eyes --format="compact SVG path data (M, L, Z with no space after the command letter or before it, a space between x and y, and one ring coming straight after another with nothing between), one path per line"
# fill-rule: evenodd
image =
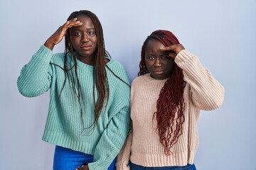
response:
M139 67L117 170L196 169L200 111L222 105L223 86L167 30L146 38Z

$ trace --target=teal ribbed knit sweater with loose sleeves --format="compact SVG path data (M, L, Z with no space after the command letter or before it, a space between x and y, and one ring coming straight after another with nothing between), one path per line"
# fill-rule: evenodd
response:
M110 96L102 108L97 125L92 129L90 125L95 118L93 67L77 60L78 79L84 99L81 118L81 107L68 79L60 95L65 81L65 72L60 68L64 65L63 56L63 53L53 55L51 50L42 45L31 61L21 69L17 81L18 90L23 96L35 97L50 89L50 104L43 140L53 145L93 154L94 162L88 164L89 168L107 169L122 148L129 130L130 88L127 86L127 73L119 62L110 59L107 63L112 72L127 84L107 69ZM67 63L70 67L69 72L75 73L74 61L70 54ZM78 90L77 86L75 89Z

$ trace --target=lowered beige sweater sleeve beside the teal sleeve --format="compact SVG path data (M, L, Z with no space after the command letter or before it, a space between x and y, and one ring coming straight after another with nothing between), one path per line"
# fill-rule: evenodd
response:
M129 134L127 140L124 143L121 151L117 155L117 163L116 169L117 170L129 170L129 157L131 154L131 147L132 147L132 128L129 130Z

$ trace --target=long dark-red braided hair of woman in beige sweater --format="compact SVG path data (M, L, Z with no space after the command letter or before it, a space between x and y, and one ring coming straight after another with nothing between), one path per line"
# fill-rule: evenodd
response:
M176 36L168 30L156 30L149 35L142 45L141 61L139 63L138 76L149 73L146 68L145 50L149 40L159 40L164 46L179 44ZM182 125L184 122L184 100L183 89L186 82L183 80L182 69L174 63L174 69L161 89L159 98L156 101L156 130L159 141L164 146L164 153L171 154L171 147L182 135ZM154 118L154 117L153 117Z

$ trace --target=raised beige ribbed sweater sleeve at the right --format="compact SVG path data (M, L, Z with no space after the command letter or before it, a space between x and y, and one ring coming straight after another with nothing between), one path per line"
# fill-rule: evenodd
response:
M181 50L175 62L183 69L184 80L191 89L193 104L205 111L219 108L224 100L223 86L204 68L198 57L187 50Z

